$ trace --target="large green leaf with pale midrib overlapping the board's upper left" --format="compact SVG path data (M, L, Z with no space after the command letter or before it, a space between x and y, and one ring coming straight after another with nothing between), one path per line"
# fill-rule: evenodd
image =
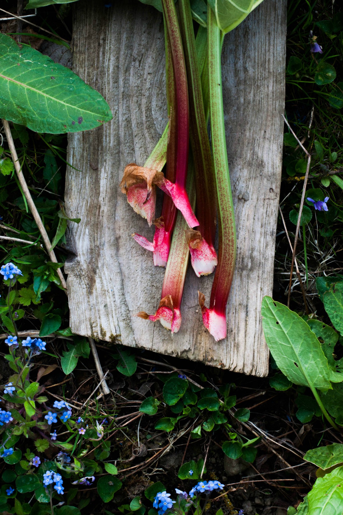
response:
M36 132L78 132L112 119L100 93L69 68L2 33L0 91L0 117Z

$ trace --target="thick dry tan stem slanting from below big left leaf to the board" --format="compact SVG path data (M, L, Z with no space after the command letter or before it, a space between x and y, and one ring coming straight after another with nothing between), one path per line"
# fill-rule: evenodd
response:
M39 213L37 211L37 208L34 205L33 199L31 197L31 193L30 193L29 188L28 188L28 186L26 184L26 181L25 181L25 178L24 178L24 175L23 175L20 163L19 163L19 159L18 159L16 150L15 150L15 146L14 146L14 142L13 142L13 138L12 138L12 134L11 134L11 129L10 129L9 123L7 122L7 120L4 120L4 119L3 119L2 122L3 122L3 125L4 125L8 146L9 146L9 149L11 151L12 161L14 163L16 175L18 176L20 185L22 187L23 193L24 193L25 198L27 200L27 203L29 205L30 211L31 211L31 213L33 215L34 221L37 224L39 232L42 235L43 242L44 242L44 245L46 247L46 250L48 251L50 260L53 263L58 263L58 261L56 259L55 252L53 252L53 250L50 250L51 249L51 243L50 243L50 240L49 240L49 236L47 235L47 232L46 232L45 227L43 225L42 219L41 219L41 217L40 217L40 215L39 215ZM61 280L61 284L62 284L63 288L66 290L67 289L67 284L66 284L65 279L63 277L62 270L60 268L58 268L57 269L57 273L58 273L58 276L59 276L59 278ZM67 293L67 292L65 292L65 293Z

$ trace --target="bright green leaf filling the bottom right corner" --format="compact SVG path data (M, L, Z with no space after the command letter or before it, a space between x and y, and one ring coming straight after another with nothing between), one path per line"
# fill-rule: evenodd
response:
M318 477L308 494L309 514L329 515L343 511L343 467Z

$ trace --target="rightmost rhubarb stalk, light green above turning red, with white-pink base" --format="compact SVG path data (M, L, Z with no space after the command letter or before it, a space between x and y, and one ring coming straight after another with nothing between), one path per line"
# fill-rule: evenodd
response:
M210 307L205 306L205 297L200 292L199 303L205 327L219 341L226 337L226 304L236 262L236 228L224 127L221 32L211 9L208 9L207 16L211 142L218 198L219 249Z

